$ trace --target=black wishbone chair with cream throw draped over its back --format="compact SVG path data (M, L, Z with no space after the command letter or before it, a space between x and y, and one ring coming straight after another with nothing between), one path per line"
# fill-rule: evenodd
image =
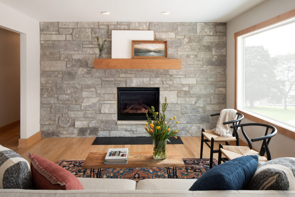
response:
M216 116L216 115L220 115L220 113L215 113L215 114L211 114L210 116ZM229 122L224 122L223 124L232 124L237 125L240 124L240 122L242 121L242 119L244 118L244 115L241 113L237 113L237 118L233 121L229 121ZM236 141L236 146L239 146L239 136L237 131L234 129L234 132L232 133L233 136L232 137L221 137L219 135L217 135L216 133L214 133L214 131L212 130L205 130L204 128L202 128L202 133L201 133L201 154L200 154L200 158L203 158L203 145L204 142L205 144L207 144L207 146L210 148L210 166L209 169L212 168L213 165L213 153L217 153L217 150L214 150L214 141L225 141L226 145L230 145L228 144L229 141ZM208 144L208 142L211 142L210 145Z

